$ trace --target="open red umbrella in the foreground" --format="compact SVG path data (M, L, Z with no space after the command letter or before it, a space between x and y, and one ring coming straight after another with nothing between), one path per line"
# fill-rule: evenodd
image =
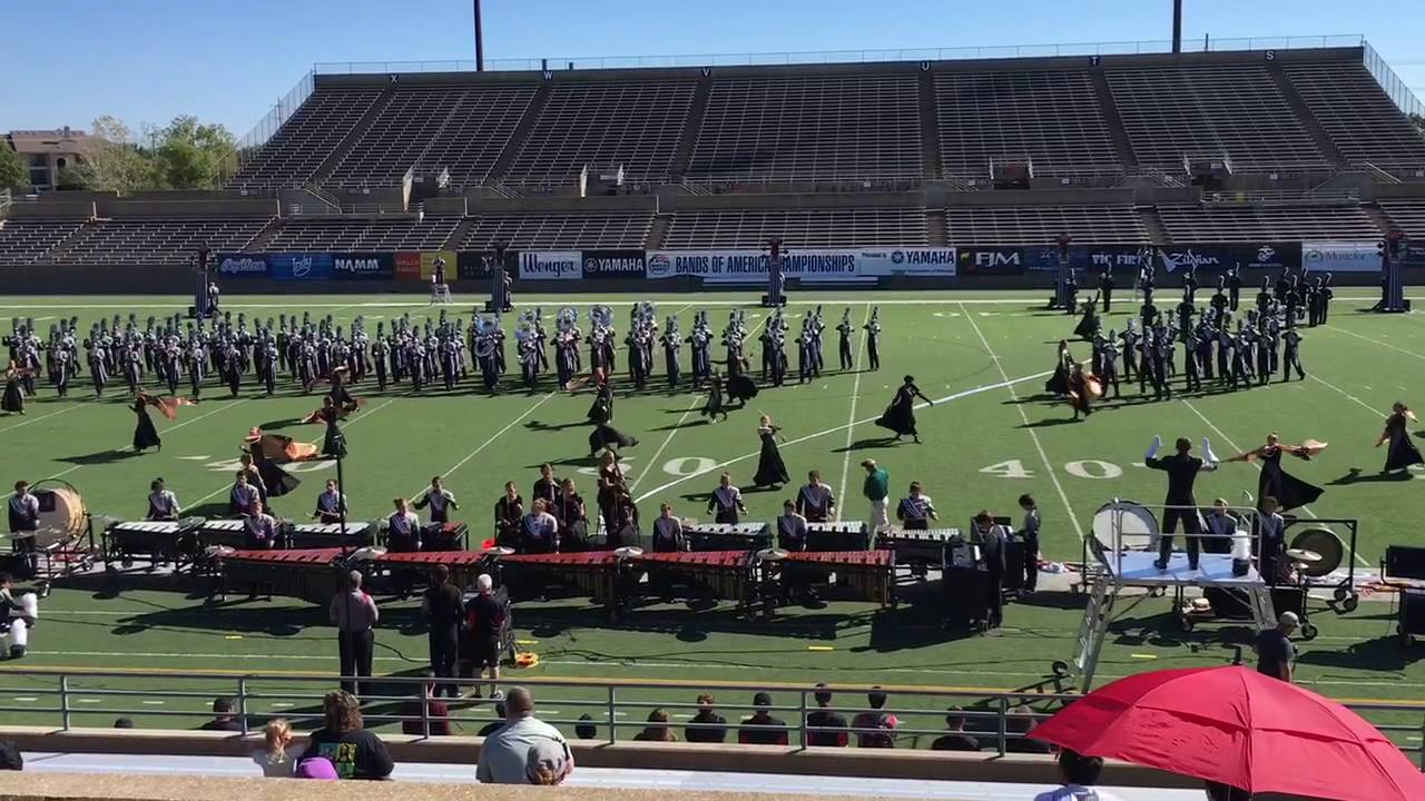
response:
M1374 725L1335 701L1243 667L1120 678L1030 737L1251 792L1425 798L1425 775Z

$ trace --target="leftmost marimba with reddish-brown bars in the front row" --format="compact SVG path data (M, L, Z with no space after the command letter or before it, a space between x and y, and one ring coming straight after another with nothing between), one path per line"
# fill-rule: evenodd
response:
M247 590L249 597L284 596L326 604L345 586L339 547L234 550L218 557L215 596Z

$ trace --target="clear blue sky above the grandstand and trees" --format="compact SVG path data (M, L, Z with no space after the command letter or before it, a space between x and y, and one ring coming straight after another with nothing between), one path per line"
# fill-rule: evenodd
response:
M9 6L9 7L6 7ZM470 0L0 4L0 131L191 113L242 135L315 61L473 58ZM1358 33L1425 97L1419 0L1186 0L1184 38ZM484 0L487 58L1163 40L1170 0Z

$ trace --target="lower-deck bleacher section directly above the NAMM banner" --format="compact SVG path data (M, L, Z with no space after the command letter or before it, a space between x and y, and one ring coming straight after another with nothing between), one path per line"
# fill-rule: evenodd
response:
M288 218L268 251L439 251L459 217Z

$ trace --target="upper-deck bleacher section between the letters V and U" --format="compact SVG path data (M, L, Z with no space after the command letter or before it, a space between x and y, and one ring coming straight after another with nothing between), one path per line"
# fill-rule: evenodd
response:
M688 175L828 181L919 177L915 76L712 83Z

